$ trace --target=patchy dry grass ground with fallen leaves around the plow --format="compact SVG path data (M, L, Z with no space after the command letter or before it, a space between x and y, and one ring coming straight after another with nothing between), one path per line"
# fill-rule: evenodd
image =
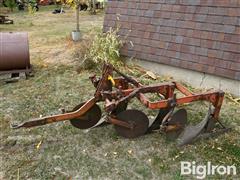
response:
M64 14L54 15L54 8L41 7L34 15L14 12L9 14L14 25L0 25L0 31L29 33L34 67L34 77L16 83L0 82L0 179L180 180L193 178L180 176L181 161L240 167L240 106L228 98L224 100L221 121L232 130L181 148L158 132L124 139L113 126L82 131L66 121L32 129L10 129L12 123L56 114L63 107L70 110L93 96L94 88L88 79L92 72L76 71L74 52L79 44L70 40L70 32L75 28L74 12L66 9ZM88 38L89 32L100 31L102 24L103 13L80 15L84 38ZM130 69L125 72L145 84L170 79L158 77L154 81L133 66ZM130 107L144 109L136 101ZM205 116L208 105L198 102L184 108L190 123L194 123ZM239 175L226 177L238 178Z

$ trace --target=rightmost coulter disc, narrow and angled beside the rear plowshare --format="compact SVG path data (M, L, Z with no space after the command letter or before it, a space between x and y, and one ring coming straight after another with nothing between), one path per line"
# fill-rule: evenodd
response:
M181 132L184 130L187 124L187 111L185 109L179 109L175 112L172 118L168 121L168 126L175 127L166 131L166 136L168 139L176 139Z

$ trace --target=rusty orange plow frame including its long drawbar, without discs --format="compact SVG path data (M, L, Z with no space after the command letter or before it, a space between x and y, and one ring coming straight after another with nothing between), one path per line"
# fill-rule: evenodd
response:
M120 75L120 77L113 78L113 72L116 72ZM84 113L91 109L94 104L103 101L105 102L105 111L108 113L107 122L132 129L132 124L118 120L115 115L111 114L111 112L120 103L127 103L135 97L149 109L174 108L194 101L207 101L214 106L214 111L211 116L215 121L218 121L224 98L223 91L210 91L195 94L178 82L165 82L156 85L144 86L136 79L121 73L110 64L104 64L101 78L97 78L94 75L90 77L90 80L96 88L94 97L88 100L78 110L33 119L20 125L12 125L12 128L30 128L53 122L71 120L84 115ZM177 98L175 90L181 92L184 97ZM161 98L160 100L152 102L145 96L147 93L157 93Z

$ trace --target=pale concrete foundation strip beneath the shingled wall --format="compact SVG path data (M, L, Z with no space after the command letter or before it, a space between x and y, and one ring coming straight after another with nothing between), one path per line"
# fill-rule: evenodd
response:
M186 82L196 88L220 89L240 97L240 81L237 80L144 60L133 62L159 75L172 76L175 80Z

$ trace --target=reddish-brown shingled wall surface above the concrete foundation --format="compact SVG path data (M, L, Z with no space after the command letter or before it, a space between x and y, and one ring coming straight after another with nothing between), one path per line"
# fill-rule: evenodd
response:
M112 0L117 23L123 55L240 80L240 0Z

